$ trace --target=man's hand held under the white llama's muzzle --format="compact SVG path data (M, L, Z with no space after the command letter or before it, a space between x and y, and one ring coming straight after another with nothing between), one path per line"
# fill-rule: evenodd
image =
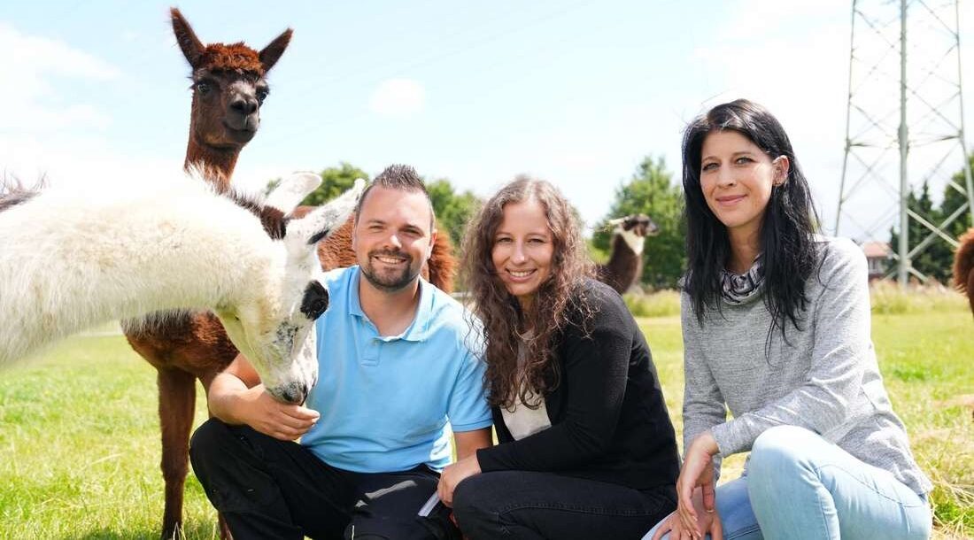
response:
M281 403L264 390L263 384L248 388L239 404L237 416L243 423L281 441L301 437L320 416L304 406Z

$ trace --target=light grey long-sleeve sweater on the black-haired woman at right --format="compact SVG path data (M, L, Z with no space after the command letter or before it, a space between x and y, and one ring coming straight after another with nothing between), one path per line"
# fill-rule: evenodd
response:
M847 239L818 240L824 259L805 285L803 332L789 322L787 342L775 330L766 348L761 294L740 305L721 300L723 312L708 310L702 325L683 294L684 448L710 429L728 456L751 450L769 427L796 425L925 493L932 485L892 411L870 339L866 258Z

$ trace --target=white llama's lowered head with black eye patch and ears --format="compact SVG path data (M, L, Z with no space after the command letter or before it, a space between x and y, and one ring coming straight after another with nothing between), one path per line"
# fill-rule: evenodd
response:
M318 183L316 174L295 175L281 183L268 203L278 208L293 207L296 200L292 199L304 198ZM304 402L318 382L313 327L328 306L328 292L320 282L316 244L348 220L363 188L364 181L357 180L355 187L341 197L301 219L286 221L281 242L275 242L281 250L271 258L267 279L254 283L247 298L234 306L214 309L267 391L282 402Z

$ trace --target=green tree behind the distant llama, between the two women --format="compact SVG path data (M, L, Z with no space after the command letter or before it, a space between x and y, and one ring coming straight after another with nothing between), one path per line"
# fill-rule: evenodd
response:
M659 234L647 239L643 250L642 282L653 287L675 287L687 267L683 223L683 192L673 183L662 157L647 156L632 177L616 189L616 199L605 222L631 214L646 214L656 222ZM595 249L608 253L612 231L603 228L593 234Z

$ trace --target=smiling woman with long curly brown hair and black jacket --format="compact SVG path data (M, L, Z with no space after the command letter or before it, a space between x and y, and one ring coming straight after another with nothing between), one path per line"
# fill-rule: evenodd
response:
M468 228L499 446L443 471L464 534L639 538L675 508L676 437L621 297L593 280L571 206L520 177Z

